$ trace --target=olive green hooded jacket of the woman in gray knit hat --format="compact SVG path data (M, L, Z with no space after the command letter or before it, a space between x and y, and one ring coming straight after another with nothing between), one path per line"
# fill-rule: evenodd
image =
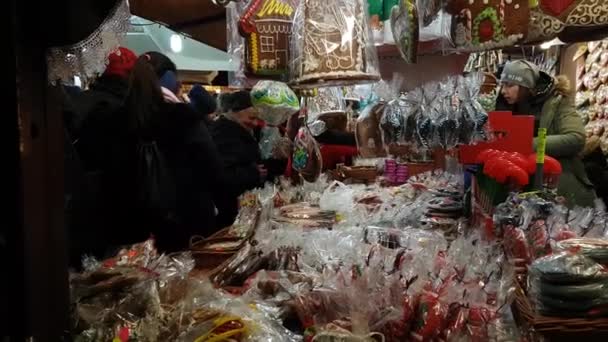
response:
M579 156L585 146L585 129L574 108L570 82L564 76L555 78L540 72L533 94L530 99L515 106L509 106L499 96L496 109L534 115L535 136L538 128L547 129L545 152L562 164L558 193L567 199L570 206L593 206L593 185ZM534 139L535 149L536 145L537 138Z

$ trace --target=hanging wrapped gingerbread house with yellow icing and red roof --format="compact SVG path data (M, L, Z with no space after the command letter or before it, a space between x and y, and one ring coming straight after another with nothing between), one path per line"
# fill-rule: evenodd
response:
M249 75L282 79L289 63L289 36L295 12L286 0L253 0L239 22Z

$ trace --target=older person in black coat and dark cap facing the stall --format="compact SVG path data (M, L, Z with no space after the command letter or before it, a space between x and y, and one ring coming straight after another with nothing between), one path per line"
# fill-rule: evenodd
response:
M254 137L258 114L249 92L224 94L219 103L223 114L213 124L211 135L223 162L225 191L215 199L218 228L223 228L234 223L238 197L262 186L268 172Z

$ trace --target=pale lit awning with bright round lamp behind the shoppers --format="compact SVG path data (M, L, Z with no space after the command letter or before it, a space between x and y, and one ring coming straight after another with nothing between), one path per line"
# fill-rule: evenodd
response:
M175 42L176 40L179 43ZM147 51L161 52L171 58L179 70L236 70L226 52L137 16L131 18L131 30L127 34L125 45L137 54Z

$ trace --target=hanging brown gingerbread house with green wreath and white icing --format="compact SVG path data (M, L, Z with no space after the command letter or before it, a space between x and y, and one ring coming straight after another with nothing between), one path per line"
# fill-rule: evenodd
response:
M450 0L452 36L461 50L487 50L524 40L530 20L529 0Z

